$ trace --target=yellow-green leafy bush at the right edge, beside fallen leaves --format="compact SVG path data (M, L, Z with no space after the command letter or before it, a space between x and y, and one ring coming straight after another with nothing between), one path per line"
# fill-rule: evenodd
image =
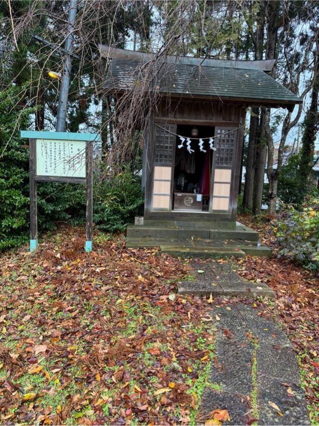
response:
M310 269L319 269L319 199L309 198L302 211L290 208L274 228L280 253Z

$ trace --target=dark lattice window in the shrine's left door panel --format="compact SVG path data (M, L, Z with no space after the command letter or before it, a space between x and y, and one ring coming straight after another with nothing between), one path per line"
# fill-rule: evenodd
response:
M170 132L175 132L176 126L170 124L160 124ZM156 128L155 136L155 164L171 164L173 159L173 149L175 148L176 136L168 133L166 130L158 126Z

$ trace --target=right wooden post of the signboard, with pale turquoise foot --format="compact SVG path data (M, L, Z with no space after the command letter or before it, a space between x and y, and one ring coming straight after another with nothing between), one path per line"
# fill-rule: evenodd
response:
M85 251L92 251L93 222L93 144L86 143L86 241Z

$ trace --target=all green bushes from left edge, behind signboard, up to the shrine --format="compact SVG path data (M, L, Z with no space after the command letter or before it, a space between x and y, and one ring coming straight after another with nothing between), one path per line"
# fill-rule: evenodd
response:
M26 242L29 235L29 149L20 130L28 128L34 109L19 107L18 92L11 87L0 93L0 250ZM118 176L104 172L102 165L95 174L93 220L100 229L123 230L143 213L141 179L129 169ZM39 233L60 221L85 221L85 185L39 183L37 195Z

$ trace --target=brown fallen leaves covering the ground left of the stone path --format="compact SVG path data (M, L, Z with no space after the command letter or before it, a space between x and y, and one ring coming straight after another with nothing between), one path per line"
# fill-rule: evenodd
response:
M84 239L0 257L1 424L188 424L214 336L205 301L175 294L187 264Z

